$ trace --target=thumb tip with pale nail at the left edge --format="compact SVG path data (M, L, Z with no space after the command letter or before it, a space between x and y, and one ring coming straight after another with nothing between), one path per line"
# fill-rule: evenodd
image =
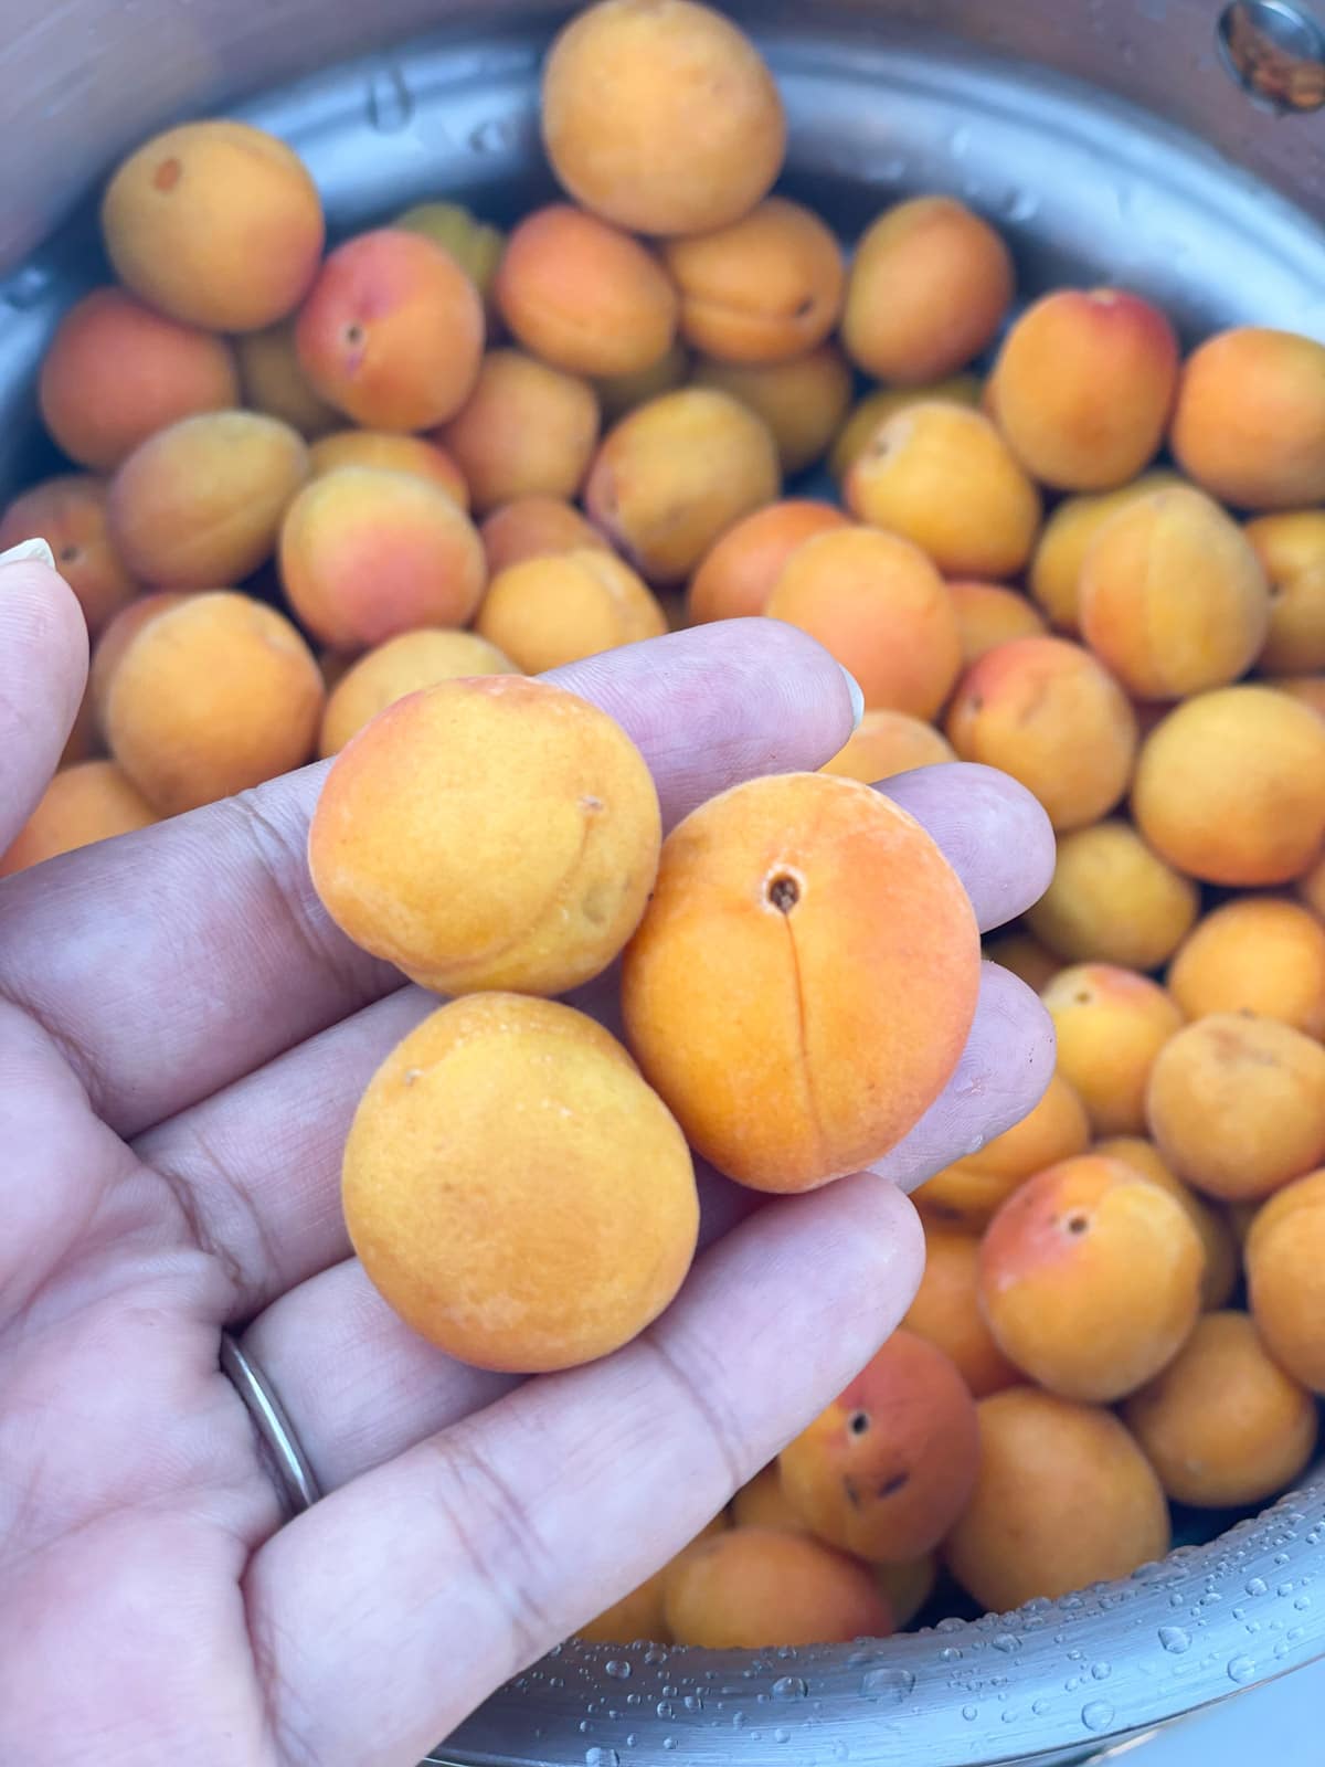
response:
M49 558L34 541L0 555L0 853L51 783L87 682L83 610Z

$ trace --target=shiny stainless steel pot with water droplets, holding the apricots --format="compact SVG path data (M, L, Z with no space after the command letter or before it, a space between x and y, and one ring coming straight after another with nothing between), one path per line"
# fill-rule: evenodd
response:
M9 0L0 489L44 465L34 366L62 307L104 274L90 198L118 152L226 104L293 141L341 231L440 193L512 214L551 187L537 65L564 11ZM440 32L410 39L438 14ZM1260 322L1325 339L1325 28L1311 5L786 0L744 14L786 94L788 187L844 231L897 193L947 189L998 221L1028 290L1118 281L1189 336ZM1320 1656L1316 1468L1208 1544L973 1624L756 1656L565 1645L435 1758L1067 1763Z

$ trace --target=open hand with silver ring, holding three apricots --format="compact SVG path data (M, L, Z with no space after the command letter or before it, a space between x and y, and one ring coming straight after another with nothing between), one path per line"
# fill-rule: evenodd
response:
M85 670L64 583L0 569L0 850ZM774 620L556 679L629 730L668 822L850 733L836 664ZM761 1205L710 1173L705 1249L640 1339L526 1382L463 1368L387 1309L341 1221L359 1094L435 1000L313 894L323 772L0 885L4 1762L408 1767L846 1385L919 1281L903 1189L1051 1073L1039 1002L986 967L958 1073L880 1175ZM889 792L982 926L1042 891L1053 839L1012 781L952 765ZM284 1527L223 1329L327 1493Z

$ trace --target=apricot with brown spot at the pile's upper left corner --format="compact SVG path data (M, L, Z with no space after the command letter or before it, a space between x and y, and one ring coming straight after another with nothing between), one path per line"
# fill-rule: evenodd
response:
M231 118L152 136L106 187L115 274L148 306L208 330L260 330L307 293L323 221L302 159Z

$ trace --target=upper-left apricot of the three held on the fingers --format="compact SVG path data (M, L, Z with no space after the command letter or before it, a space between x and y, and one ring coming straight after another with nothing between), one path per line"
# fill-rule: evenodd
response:
M438 993L564 993L640 922L661 815L606 712L519 675L398 700L344 747L309 829L355 944Z

